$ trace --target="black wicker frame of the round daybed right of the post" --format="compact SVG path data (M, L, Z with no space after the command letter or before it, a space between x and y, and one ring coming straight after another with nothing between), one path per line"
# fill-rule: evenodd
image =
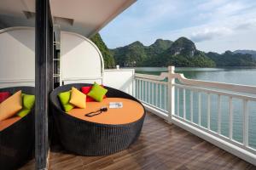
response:
M57 95L70 90L72 87L80 89L84 86L91 86L91 84L67 84L55 88L50 94L50 105L52 105L52 114L61 144L66 150L82 156L106 156L125 150L137 140L141 133L145 117L144 108L143 116L136 122L119 125L88 122L62 111ZM125 94L114 88L104 88L108 89L108 98L131 99L142 105L130 94Z

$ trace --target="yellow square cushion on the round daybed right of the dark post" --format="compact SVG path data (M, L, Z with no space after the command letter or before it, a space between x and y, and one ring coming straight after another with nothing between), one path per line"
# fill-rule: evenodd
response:
M77 88L71 88L71 97L69 103L84 109L86 107L86 95L80 92Z

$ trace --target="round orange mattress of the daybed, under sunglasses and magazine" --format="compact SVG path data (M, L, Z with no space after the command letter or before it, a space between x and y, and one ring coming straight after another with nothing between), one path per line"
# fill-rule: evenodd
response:
M110 109L109 102L122 102L123 107ZM84 116L91 111L98 111L104 106L108 107L107 112L102 112L97 116ZM137 120L143 117L144 109L140 103L131 99L106 98L103 99L102 102L86 102L85 109L74 108L73 110L68 111L67 114L88 122L119 125L137 122Z

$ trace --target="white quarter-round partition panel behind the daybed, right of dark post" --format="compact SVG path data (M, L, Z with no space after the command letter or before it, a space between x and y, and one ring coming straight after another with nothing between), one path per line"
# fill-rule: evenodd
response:
M61 81L102 83L102 54L88 38L61 31Z

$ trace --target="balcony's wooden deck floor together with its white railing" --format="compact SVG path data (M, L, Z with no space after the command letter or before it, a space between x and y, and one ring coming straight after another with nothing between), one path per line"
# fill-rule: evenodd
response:
M160 76L135 74L133 95L148 112L141 136L128 150L76 156L53 144L49 168L255 169L255 122L250 110L255 87L189 80L174 69L170 66ZM242 105L238 127L236 99ZM31 161L21 169L33 168Z

